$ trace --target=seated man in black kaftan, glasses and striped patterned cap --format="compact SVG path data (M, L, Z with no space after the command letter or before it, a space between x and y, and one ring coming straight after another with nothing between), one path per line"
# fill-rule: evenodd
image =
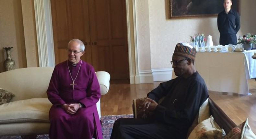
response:
M152 111L152 117L118 119L111 139L185 139L200 106L209 96L204 79L195 70L195 55L192 46L178 43L171 61L178 77L160 83L144 102L144 109ZM162 97L165 98L158 104Z

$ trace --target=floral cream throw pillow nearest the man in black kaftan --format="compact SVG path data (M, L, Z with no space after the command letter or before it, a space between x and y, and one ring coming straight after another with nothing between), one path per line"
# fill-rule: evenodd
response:
M220 129L211 115L193 129L188 139L222 139L225 135L225 131Z

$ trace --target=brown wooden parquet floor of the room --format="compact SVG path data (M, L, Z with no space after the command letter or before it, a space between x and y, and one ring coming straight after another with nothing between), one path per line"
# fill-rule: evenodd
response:
M132 114L132 100L145 97L160 82L130 84L129 81L111 81L110 90L101 96L101 115ZM251 95L209 91L210 98L237 125L249 119L249 125L256 134L256 81L249 80Z

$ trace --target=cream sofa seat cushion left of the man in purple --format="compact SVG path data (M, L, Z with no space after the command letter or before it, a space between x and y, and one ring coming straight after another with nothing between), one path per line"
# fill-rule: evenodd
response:
M47 98L32 98L0 105L0 124L47 122L52 103Z

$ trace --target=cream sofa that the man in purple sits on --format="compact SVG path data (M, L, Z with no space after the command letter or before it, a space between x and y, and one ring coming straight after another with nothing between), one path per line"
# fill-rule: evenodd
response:
M12 92L15 97L0 105L0 136L48 134L48 112L52 106L46 90L53 68L22 68L0 73L0 88ZM109 90L110 75L98 71L101 95ZM100 116L100 101L97 102Z

